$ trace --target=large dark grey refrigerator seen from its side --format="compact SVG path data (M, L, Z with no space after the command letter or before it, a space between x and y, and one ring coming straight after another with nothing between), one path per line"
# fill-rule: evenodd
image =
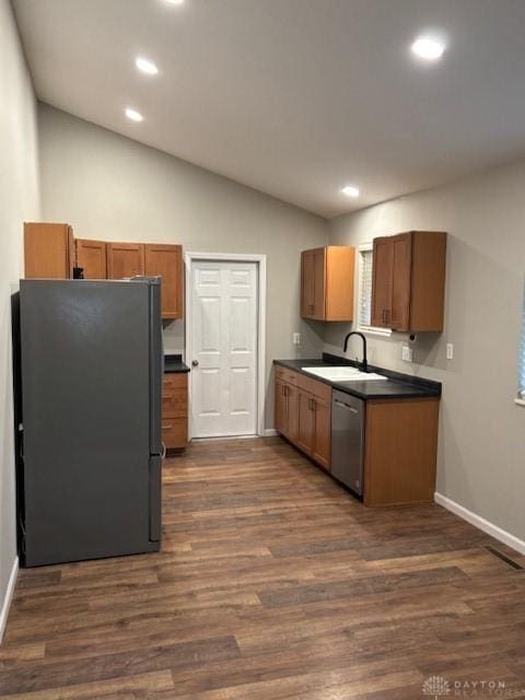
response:
M16 296L21 563L158 551L160 278L21 280Z

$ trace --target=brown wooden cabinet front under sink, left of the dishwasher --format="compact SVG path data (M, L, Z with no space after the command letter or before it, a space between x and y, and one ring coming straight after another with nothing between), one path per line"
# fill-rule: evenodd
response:
M330 468L331 388L276 369L276 430L325 469Z

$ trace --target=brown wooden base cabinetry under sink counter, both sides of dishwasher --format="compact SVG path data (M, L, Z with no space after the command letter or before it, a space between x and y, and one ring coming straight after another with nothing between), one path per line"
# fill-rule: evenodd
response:
M433 501L439 410L438 397L366 401L365 505ZM276 366L276 430L330 471L331 386Z

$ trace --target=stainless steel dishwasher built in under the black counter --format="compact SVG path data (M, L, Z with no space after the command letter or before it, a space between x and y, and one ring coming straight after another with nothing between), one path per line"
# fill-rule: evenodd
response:
M331 398L331 476L363 497L364 401L334 389Z

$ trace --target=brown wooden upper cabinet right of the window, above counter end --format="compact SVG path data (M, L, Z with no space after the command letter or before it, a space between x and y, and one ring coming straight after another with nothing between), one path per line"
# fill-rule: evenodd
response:
M372 325L442 331L446 233L411 231L374 238Z

